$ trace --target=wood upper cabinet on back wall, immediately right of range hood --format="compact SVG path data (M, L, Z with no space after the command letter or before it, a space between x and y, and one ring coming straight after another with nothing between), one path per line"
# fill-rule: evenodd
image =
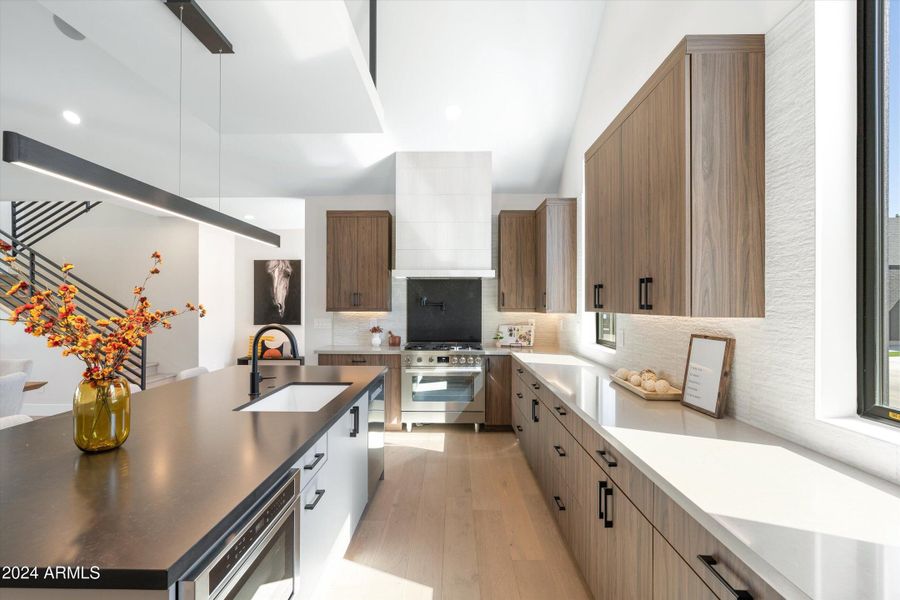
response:
M500 211L499 246L500 311L533 311L535 304L535 243L533 210Z

